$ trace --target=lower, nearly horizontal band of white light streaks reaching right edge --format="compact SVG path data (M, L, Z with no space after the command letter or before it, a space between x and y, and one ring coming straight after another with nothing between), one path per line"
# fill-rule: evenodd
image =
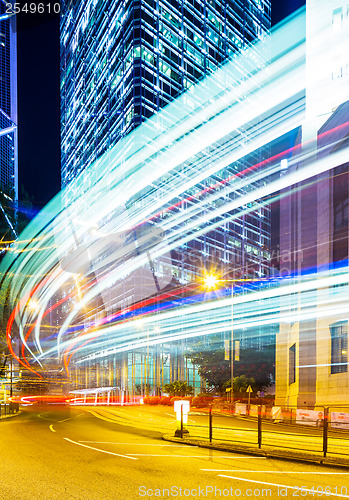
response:
M341 289L336 298L329 299L328 291L338 285L345 285ZM319 296L319 289L322 290ZM348 291L348 272L346 267L338 269L333 272L322 273L321 276L312 278L311 275L299 278L298 283L287 284L280 281L280 285L276 284L274 288L268 288L263 291L256 291L251 294L242 294L220 300L211 300L201 304L195 304L181 309L180 314L178 308L176 310L164 312L161 314L161 323L164 325L161 328L162 333L166 330L168 335L164 336L154 331L154 323L159 320L157 315L142 318L143 333L139 332L135 325L139 319L129 322L127 325L111 325L103 328L99 332L99 336L103 335L103 339L94 344L93 350L95 354L89 358L82 358L81 361L86 359L95 359L99 356L104 356L105 352L98 352L98 346L101 345L103 351L106 345L114 346L117 339L117 347L110 347L108 353L122 352L132 349L137 341L140 341L143 335L143 343L151 342L152 345L162 343L164 340L172 338L171 335L175 330L181 330L176 334L176 338L189 338L202 335L207 331L212 332L211 323L217 321L219 318L219 325L221 329L231 328L231 307L234 308L234 325L237 328L248 328L261 322L263 324L279 323L281 321L292 322L295 317L302 317L303 319L310 317L317 317L319 315L318 308L323 305L329 307L324 309L321 314L324 315L338 315L341 311L347 315L346 310L346 296ZM294 294L302 293L302 301L306 303L306 309L300 313L298 307L289 302L289 297ZM341 303L343 302L343 308ZM304 305L304 304L303 304ZM268 311L268 308L270 309ZM341 309L342 308L342 309ZM293 310L293 313L291 312ZM213 315L213 316L212 316ZM261 318L261 315L265 317ZM203 318L205 318L203 323ZM254 318L254 319L253 319ZM182 327L185 326L183 333ZM194 332L191 330L193 327L197 328ZM84 336L85 342L90 338L96 336L96 332L91 332ZM107 339L107 340L105 340ZM124 342L123 346L120 343ZM63 348L70 347L71 343L68 341L63 344ZM138 344L137 344L138 345ZM56 347L51 350L51 354L55 352Z

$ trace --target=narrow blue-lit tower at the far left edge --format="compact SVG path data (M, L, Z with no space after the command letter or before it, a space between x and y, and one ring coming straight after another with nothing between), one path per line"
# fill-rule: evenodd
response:
M0 2L0 189L17 198L17 41L15 16Z

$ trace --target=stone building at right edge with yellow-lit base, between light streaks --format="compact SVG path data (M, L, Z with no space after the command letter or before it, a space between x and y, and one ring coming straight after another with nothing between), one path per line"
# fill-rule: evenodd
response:
M306 121L299 140L319 161L348 145L349 4L307 0ZM326 88L326 92L324 92ZM294 169L306 166L304 162ZM333 272L348 266L348 163L313 179L281 202L281 257L290 272ZM345 405L349 396L348 300L345 285L318 290L317 317L280 325L276 401L302 407ZM325 304L321 294L326 294ZM335 314L326 304L338 301ZM294 311L306 310L302 295ZM347 411L347 410L344 410Z

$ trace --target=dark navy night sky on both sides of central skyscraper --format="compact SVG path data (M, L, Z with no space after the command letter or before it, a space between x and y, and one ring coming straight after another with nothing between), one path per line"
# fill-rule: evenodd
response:
M272 24L304 4L272 0ZM60 189L59 16L22 13L17 30L19 196L40 208Z

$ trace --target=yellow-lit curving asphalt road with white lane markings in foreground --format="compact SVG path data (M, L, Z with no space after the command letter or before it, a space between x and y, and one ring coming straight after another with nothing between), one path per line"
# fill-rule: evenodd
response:
M349 498L344 469L164 442L171 409L122 412L46 407L1 421L0 499Z

